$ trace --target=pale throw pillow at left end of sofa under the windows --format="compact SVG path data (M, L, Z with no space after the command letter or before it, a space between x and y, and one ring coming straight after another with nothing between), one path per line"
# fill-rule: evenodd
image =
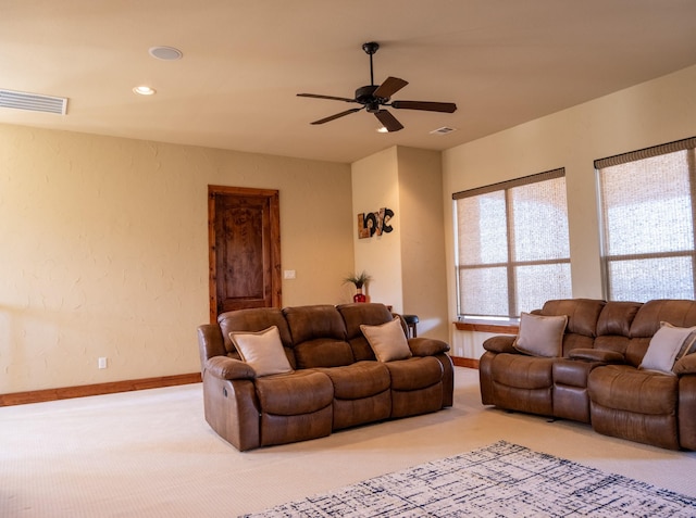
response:
M567 315L520 315L520 332L513 346L532 356L555 358L563 355L563 333L568 324Z

